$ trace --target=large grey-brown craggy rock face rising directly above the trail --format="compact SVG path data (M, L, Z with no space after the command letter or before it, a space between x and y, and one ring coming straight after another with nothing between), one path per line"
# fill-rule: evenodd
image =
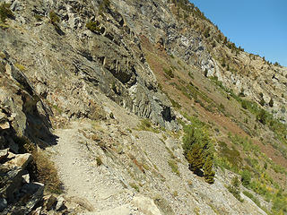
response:
M170 101L157 89L137 35L112 4L11 3L18 5L13 7L15 20L9 30L1 30L1 44L13 62L22 65L37 94L63 115L94 117L96 88L136 115L176 128ZM59 18L54 25L48 18L51 11ZM87 30L90 21L99 31Z

